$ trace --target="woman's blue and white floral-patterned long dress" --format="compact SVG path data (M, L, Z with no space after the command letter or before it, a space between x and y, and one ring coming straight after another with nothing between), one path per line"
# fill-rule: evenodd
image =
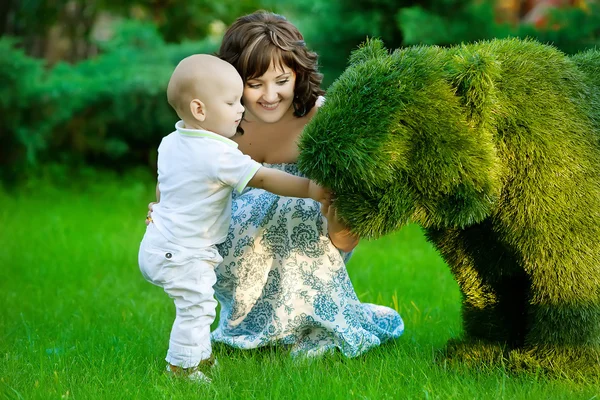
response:
M296 164L264 165L300 175ZM215 342L241 349L287 345L292 355L305 356L338 348L355 357L404 331L396 311L358 300L348 255L327 237L314 200L253 188L234 195L219 252Z

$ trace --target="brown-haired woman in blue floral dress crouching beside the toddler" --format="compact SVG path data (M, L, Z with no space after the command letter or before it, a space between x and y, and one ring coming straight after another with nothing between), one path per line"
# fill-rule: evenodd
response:
M317 55L284 17L259 11L233 23L219 56L244 81L240 150L300 175L297 141L324 94ZM339 348L353 357L402 334L396 311L359 302L344 264L358 238L333 206L247 189L232 212L219 246L214 341L242 349L287 344L294 355Z

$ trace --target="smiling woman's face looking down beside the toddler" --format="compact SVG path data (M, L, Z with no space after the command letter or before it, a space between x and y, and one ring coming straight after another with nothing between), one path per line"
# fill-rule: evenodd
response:
M243 97L245 120L274 123L291 109L296 74L285 64L282 67L271 62L264 75L246 82Z

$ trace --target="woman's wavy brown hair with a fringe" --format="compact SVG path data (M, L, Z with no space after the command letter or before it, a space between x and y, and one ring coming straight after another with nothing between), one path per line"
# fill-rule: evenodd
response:
M306 48L298 28L281 15L261 10L238 18L225 32L218 56L237 69L244 83L262 76L272 61L291 68L296 73L297 117L306 115L325 93L317 54Z

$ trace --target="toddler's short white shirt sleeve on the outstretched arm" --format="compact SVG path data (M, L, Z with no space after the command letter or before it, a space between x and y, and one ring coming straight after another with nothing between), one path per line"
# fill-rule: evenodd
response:
M260 167L250 156L230 147L219 160L217 174L221 182L241 192Z

